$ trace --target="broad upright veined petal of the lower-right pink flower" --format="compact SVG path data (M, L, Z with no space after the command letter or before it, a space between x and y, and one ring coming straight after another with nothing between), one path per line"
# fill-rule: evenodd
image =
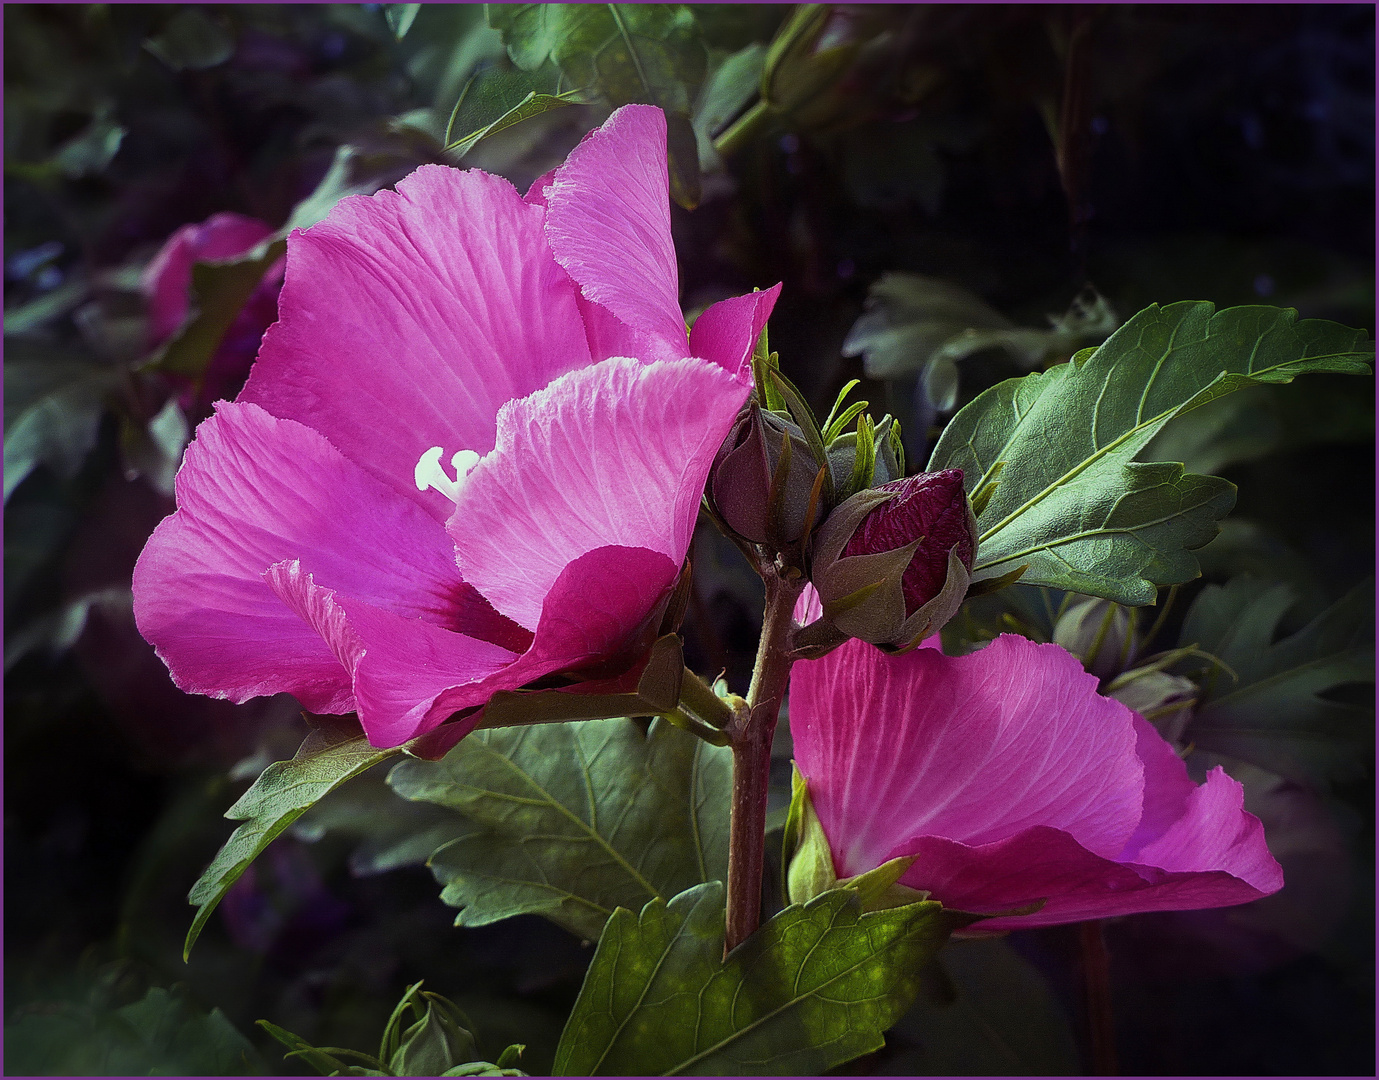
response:
M917 837L976 846L1033 825L1114 857L1140 817L1131 713L1056 646L888 657L854 640L794 666L790 709L840 874Z

